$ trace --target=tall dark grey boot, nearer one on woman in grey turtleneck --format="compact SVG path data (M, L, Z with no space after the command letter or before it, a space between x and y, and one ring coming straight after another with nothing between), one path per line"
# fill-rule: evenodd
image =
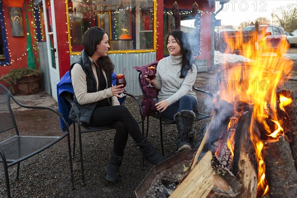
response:
M177 151L190 150L190 133L192 133L193 123L196 115L190 110L181 110L174 115L177 126Z

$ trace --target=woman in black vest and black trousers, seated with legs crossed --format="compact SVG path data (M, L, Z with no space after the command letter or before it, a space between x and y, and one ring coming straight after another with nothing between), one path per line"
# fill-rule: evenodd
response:
M110 49L107 33L99 27L92 27L84 33L82 44L85 49L70 68L74 101L80 111L80 120L91 127L107 125L116 129L110 161L105 167L105 179L109 182L118 180L128 134L148 161L153 164L163 161L165 157L142 135L130 111L119 104L118 94L124 91L124 87L112 86L111 83L114 65L107 55ZM69 118L76 119L73 109Z

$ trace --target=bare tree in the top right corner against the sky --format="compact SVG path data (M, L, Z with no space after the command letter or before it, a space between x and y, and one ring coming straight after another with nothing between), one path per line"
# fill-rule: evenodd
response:
M297 27L297 8L295 3L290 3L276 9L277 22L287 32L293 32Z

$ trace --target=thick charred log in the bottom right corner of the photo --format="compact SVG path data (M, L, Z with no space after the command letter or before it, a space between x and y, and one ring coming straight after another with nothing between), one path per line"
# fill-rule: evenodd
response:
M272 197L297 197L297 171L289 143L283 136L269 140L262 150L266 164L266 179Z

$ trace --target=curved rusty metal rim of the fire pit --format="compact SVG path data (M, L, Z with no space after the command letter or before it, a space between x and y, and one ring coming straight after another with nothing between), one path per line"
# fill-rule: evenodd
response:
M136 197L144 198L146 195L146 192L150 187L152 180L155 178L156 175L158 175L159 173L161 173L166 169L170 169L171 167L173 167L174 165L176 165L181 161L192 160L196 151L197 151L197 148L191 149L191 150L185 150L153 166L152 169L148 172L148 175L145 177L145 179L140 183L140 185L134 191Z

